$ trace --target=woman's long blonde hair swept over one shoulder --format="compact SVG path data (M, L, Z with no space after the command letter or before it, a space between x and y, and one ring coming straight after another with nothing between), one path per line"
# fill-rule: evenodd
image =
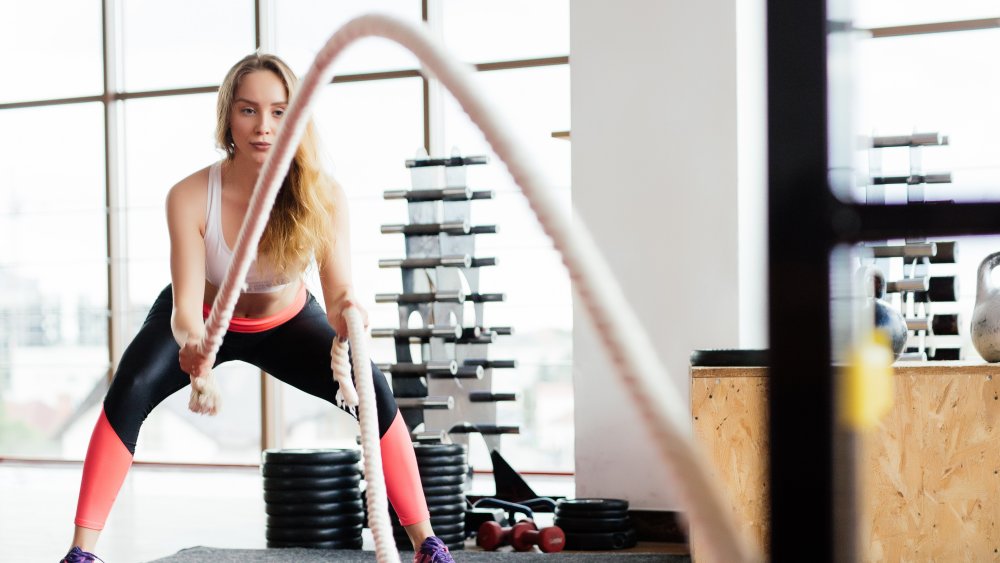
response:
M259 71L273 72L284 83L289 100L298 89L298 78L274 55L254 53L229 69L219 87L215 125L215 142L229 161L236 156L229 125L236 90L244 76ZM329 222L334 211L333 182L321 167L319 136L310 119L257 246L258 261L276 275L297 276L314 256L324 256L333 245L334 241L327 239L332 236Z

